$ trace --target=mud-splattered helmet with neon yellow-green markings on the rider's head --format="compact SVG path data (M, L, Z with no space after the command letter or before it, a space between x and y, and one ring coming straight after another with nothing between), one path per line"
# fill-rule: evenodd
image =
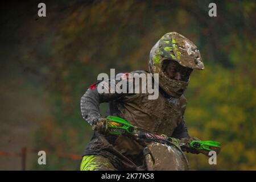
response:
M177 32L162 36L150 51L149 70L159 73L159 86L169 96L179 98L188 86L188 81L169 78L164 72L164 61L176 61L181 66L191 69L204 69L204 63L196 45Z

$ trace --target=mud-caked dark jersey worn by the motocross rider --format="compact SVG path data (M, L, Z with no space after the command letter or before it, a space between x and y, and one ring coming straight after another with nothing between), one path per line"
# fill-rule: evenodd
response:
M148 74L146 71L130 73ZM116 85L120 80L126 80L129 89L133 84L128 83L134 80L129 80L130 77L127 75L129 74L118 74L121 79L110 78L90 86L81 98L82 117L92 125L94 121L104 117L100 115L100 104L109 102L109 115L121 117L153 134L165 134L179 139L189 138L183 117L187 101L183 95L180 98L171 98L160 88L159 96L153 100L148 99L148 92L142 91L120 93L117 90L113 92L113 88L109 87L109 93L98 92L98 86L104 85L106 89L106 85L110 85L111 82ZM117 169L135 170L143 163L143 147L142 143L124 136L101 135L94 132L84 155L103 155L109 158Z

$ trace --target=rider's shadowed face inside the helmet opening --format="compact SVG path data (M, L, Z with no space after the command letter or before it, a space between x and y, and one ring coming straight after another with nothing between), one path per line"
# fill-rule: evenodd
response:
M176 61L166 60L163 64L164 73L172 80L188 81L192 72L191 68L185 68Z

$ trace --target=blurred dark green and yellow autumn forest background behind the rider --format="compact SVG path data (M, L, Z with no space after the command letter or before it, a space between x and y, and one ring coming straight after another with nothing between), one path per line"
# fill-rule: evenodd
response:
M98 73L146 69L150 49L176 31L199 47L204 71L185 93L189 134L222 143L217 165L186 154L195 170L256 170L255 1L3 1L0 17L0 169L77 170L92 131L80 98ZM106 104L101 106L104 114ZM1 155L2 154L2 155ZM72 160L73 159L73 160Z

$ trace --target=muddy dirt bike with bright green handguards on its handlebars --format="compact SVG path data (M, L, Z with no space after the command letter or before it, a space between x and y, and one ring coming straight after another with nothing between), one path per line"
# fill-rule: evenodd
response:
M146 168L152 170L189 170L189 163L181 147L185 143L167 135L156 135L142 128L135 127L125 119L109 115L106 117L104 129L112 135L126 135L138 142L148 142L143 153L146 159ZM220 148L219 142L192 140L189 145L195 150L212 151Z

